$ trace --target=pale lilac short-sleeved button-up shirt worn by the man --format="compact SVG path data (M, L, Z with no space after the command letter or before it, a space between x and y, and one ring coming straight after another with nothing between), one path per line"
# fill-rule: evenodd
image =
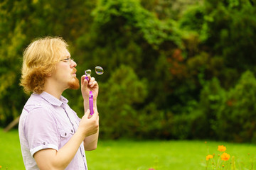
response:
M26 169L38 169L33 154L41 149L63 147L78 129L80 118L68 106L63 96L55 98L50 94L32 94L26 102L18 125L21 152ZM82 144L66 170L87 170L85 148Z

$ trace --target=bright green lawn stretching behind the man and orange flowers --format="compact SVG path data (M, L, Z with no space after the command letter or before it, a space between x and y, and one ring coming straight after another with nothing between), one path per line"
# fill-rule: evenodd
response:
M218 145L235 156L238 169L249 169L255 162L256 145L208 141L105 141L100 140L95 151L86 152L90 170L198 170L205 169L206 155L218 155ZM21 157L18 131L0 129L1 169L25 169ZM248 156L250 153L250 158ZM244 165L245 164L245 165Z

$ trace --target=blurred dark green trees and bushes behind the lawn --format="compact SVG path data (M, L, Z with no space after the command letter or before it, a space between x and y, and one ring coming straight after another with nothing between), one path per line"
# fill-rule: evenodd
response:
M29 97L19 86L23 50L51 35L68 42L78 79L92 69L100 85L101 139L256 142L255 7L255 0L2 0L0 127ZM81 117L80 90L63 96Z

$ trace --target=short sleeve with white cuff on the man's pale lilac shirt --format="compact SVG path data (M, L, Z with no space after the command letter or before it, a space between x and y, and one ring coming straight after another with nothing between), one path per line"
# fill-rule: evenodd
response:
M24 125L32 157L41 149L58 150L58 125L47 108L39 107L30 111Z

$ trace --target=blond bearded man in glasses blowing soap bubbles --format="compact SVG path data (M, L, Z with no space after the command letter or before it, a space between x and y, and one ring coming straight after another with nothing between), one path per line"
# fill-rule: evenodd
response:
M85 115L82 119L62 95L66 89L79 89L77 64L70 58L62 38L33 41L23 53L21 86L31 93L21 113L18 132L26 169L87 169L85 150L96 149L99 135L95 78L81 77ZM90 115L92 91L94 114Z

